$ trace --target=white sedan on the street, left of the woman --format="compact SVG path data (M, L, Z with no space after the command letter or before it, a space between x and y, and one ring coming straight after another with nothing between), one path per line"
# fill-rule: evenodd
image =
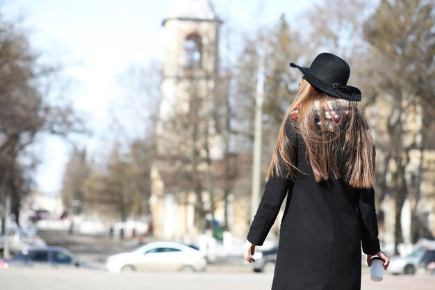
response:
M106 270L121 271L204 271L207 260L202 252L189 245L174 242L153 242L131 252L112 255Z

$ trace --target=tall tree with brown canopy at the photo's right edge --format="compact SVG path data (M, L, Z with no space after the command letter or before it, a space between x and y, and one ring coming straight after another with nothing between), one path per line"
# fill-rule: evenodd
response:
M395 25L391 25L394 23ZM395 245L403 241L401 210L406 198L413 199L412 225L416 235L416 206L420 198L427 127L433 122L434 108L434 3L424 0L381 1L366 24L366 39L381 55L388 71L382 77L384 93L392 98L388 134L388 150L395 163L391 191L395 196ZM412 112L410 109L414 110ZM422 125L412 134L407 126L407 114L421 118ZM416 121L414 121L416 124ZM420 139L420 140L419 140ZM417 182L409 179L411 150L420 151ZM415 184L412 184L415 183ZM415 187L414 187L415 186ZM412 189L414 187L414 189Z

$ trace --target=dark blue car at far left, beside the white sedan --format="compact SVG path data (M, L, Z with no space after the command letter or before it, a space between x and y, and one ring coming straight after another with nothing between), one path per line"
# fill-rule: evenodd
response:
M65 248L52 247L31 248L23 250L13 259L8 260L10 267L35 267L35 266L81 266L83 264Z

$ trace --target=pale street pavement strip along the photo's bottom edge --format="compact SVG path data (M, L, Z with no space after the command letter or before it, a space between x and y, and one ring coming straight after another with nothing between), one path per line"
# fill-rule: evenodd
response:
M272 274L258 273L121 273L83 268L8 268L0 271L1 290L265 290ZM363 290L434 290L435 277L386 275L372 282L363 275ZM340 290L340 289L336 289Z

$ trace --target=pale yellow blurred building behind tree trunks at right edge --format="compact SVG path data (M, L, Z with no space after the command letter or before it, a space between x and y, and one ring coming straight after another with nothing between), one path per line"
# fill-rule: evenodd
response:
M435 236L435 144L434 136L427 136L425 150L419 150L422 144L422 114L417 104L402 104L404 112L401 118L404 137L397 142L403 149L407 158L404 168L404 179L407 186L407 195L403 198L403 207L400 221L402 223L402 236L404 243L415 243L419 239L433 239ZM402 194L393 192L397 184L399 166L395 158L388 151L391 146L391 134L388 133L389 116L392 115L393 106L384 99L377 100L377 104L369 111L368 120L371 120L377 147L377 167L379 172L387 172L384 180L378 180L378 185L384 183L384 188L378 188L379 196L384 199L378 209L380 225L380 239L386 244L395 241L395 224L397 204ZM434 124L432 124L432 129ZM427 132L431 128L425 128ZM399 200L398 200L399 199Z

